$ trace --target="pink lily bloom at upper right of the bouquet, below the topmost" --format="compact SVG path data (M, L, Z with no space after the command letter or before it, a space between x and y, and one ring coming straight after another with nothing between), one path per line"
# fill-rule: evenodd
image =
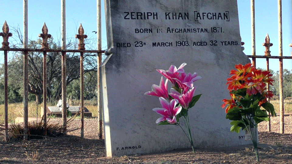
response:
M181 76L178 76L178 78L174 78L174 80L176 80L176 82L178 83L179 87L184 89L185 87L189 87L192 88L193 87L193 83L196 80L201 79L202 77L197 76L197 73L181 73Z

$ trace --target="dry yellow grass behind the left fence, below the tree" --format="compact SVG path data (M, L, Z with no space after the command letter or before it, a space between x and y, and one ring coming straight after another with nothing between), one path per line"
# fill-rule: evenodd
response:
M67 100L70 106L80 105L79 100ZM48 103L47 106L55 106L57 102ZM39 117L41 113L41 107L43 104L34 104L34 101L29 102L28 104L28 117ZM92 117L96 117L98 114L97 111L97 101L96 100L85 100L84 106L92 112ZM8 122L14 123L15 118L23 117L23 104L22 103L13 103L8 104ZM4 124L4 104L0 105L0 124Z

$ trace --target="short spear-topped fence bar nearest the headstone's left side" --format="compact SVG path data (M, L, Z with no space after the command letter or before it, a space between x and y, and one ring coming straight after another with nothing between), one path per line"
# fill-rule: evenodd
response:
M85 50L84 39L87 38L87 35L84 35L84 29L80 23L78 29L78 35L75 35L75 38L78 38L78 50ZM84 138L84 68L83 68L83 52L80 52L80 109L81 110L81 138Z

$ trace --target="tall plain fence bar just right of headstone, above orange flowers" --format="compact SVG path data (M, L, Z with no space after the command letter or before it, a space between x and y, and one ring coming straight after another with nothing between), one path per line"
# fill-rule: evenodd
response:
M252 25L252 55L255 56L255 0L250 1L251 6L251 25ZM252 65L255 65L255 57L252 57Z

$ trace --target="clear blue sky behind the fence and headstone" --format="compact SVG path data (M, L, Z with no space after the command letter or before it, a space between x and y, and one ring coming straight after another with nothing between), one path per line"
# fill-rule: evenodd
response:
M106 29L104 5L102 0L102 47L106 49ZM0 0L0 27L6 20L9 26L20 26L23 31L23 0ZM4 7L5 6L5 7ZM245 42L246 55L251 55L251 19L250 0L238 0L238 16L242 42ZM283 16L283 56L290 56L292 48L292 9L291 1L282 2ZM61 35L61 0L28 0L28 36L29 39L38 39L43 23L55 39ZM85 34L96 37L92 31L97 31L96 0L67 0L66 1L66 35L74 37L82 23ZM256 55L264 55L265 47L262 46L266 34L269 33L270 48L273 56L279 55L278 44L278 7L277 0L255 0L255 34ZM2 42L2 40L1 40ZM3 56L0 55L3 63ZM284 69L292 70L292 60L283 61ZM266 59L257 59L257 67L266 68ZM270 69L279 70L279 60L270 59Z

